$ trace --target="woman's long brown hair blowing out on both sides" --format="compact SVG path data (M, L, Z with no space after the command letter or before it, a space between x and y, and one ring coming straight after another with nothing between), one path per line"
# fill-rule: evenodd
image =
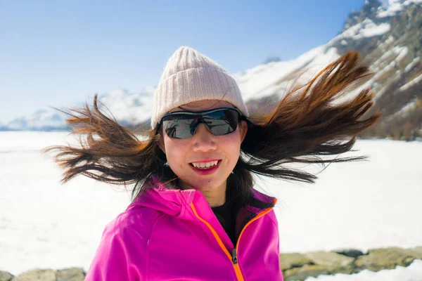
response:
M303 86L289 91L274 110L247 119L248 133L241 144L233 173L227 180L227 198L243 204L253 185L252 173L293 181L314 182L316 176L292 169L289 163L326 164L365 157L338 157L354 145L357 133L376 122L378 112L369 112L373 93L365 89L341 102L351 84L368 76L359 65L358 54L343 55ZM160 131L148 130L146 139L118 124L113 117L94 107L70 110L67 122L81 136L80 147L53 146L56 162L62 166L62 183L82 174L98 181L134 184L132 199L158 176L170 188L177 179L158 147ZM83 137L83 138L82 138Z

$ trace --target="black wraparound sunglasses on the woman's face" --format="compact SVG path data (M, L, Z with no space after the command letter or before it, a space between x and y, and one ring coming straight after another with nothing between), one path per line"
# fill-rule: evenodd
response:
M241 121L241 112L234 107L219 107L205 111L177 111L162 116L158 130L162 126L170 138L191 138L199 124L205 124L214 136L223 136L236 131Z

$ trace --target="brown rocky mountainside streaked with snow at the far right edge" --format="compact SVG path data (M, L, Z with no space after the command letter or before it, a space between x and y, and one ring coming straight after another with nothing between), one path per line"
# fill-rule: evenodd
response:
M377 0L366 1L328 44L340 54L357 50L371 65L374 75L362 87L376 92L383 119L368 133L409 139L421 136L422 129L422 1L390 2L384 8Z

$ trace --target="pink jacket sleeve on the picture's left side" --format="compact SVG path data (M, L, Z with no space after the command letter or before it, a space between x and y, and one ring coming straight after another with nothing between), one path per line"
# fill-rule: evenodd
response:
M85 281L146 280L146 239L133 228L106 226Z

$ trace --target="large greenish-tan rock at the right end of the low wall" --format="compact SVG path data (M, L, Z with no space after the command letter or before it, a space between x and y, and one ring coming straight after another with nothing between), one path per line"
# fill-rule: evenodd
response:
M410 252L409 252L410 251ZM357 257L354 262L360 270L368 269L379 271L382 269L393 269L396 266L409 266L416 259L417 249L407 250L396 247L386 249L371 249L369 254Z

